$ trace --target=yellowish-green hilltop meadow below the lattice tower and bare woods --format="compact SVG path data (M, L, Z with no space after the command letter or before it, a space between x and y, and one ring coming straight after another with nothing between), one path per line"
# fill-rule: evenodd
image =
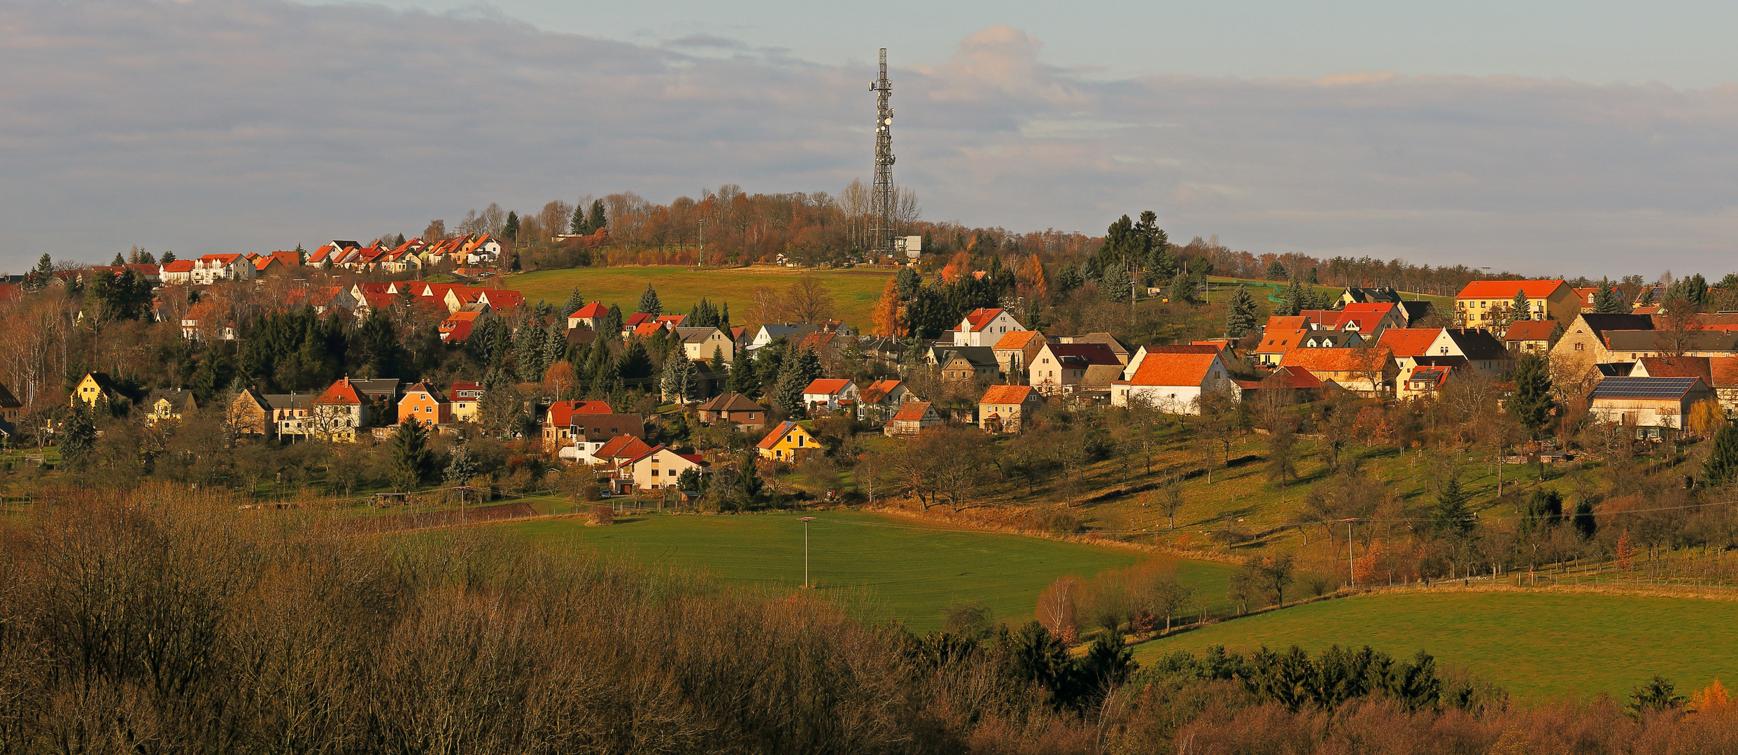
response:
M525 293L527 302L539 299L561 305L579 286L587 302L619 304L622 312L633 312L647 285L657 288L659 300L669 312L687 312L700 297L728 302L732 318L740 323L749 307L749 293L758 286L786 290L799 274L815 276L833 293L834 318L859 328L869 325L874 302L893 271L860 267L848 271L794 271L786 267L575 267L567 271L539 271L507 276L504 288ZM567 314L567 312L561 312Z

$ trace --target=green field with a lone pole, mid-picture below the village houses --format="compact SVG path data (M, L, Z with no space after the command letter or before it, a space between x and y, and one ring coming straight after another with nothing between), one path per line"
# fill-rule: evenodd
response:
M730 581L803 583L799 514L648 515L587 528L579 519L502 524L676 569L706 569ZM1144 554L970 529L916 526L879 514L824 512L810 522L810 580L820 590L867 588L881 618L914 632L940 628L947 606L982 602L998 620L1027 621L1051 580L1131 566ZM1224 595L1229 569L1180 561L1197 592Z

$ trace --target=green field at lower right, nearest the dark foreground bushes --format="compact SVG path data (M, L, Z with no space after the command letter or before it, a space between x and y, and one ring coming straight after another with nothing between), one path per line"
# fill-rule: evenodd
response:
M1609 694L1655 673L1688 694L1738 679L1738 602L1597 592L1415 592L1312 602L1224 621L1137 647L1199 653L1293 644L1371 646L1396 658L1429 651L1516 696Z

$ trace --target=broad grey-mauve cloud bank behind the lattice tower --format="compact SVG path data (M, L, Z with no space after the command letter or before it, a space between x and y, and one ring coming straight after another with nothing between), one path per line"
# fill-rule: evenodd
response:
M0 30L0 271L414 234L488 201L836 193L871 170L872 66L718 56L740 47L709 35L275 0L21 0ZM992 26L893 69L895 177L926 217L1091 233L1152 208L1253 252L1731 266L1738 89L1102 80L1041 50Z

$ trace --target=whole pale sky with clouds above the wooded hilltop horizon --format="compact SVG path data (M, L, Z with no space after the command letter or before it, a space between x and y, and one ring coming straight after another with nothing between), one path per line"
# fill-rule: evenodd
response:
M0 272L867 179L925 219L1526 274L1738 267L1738 7L0 3Z

